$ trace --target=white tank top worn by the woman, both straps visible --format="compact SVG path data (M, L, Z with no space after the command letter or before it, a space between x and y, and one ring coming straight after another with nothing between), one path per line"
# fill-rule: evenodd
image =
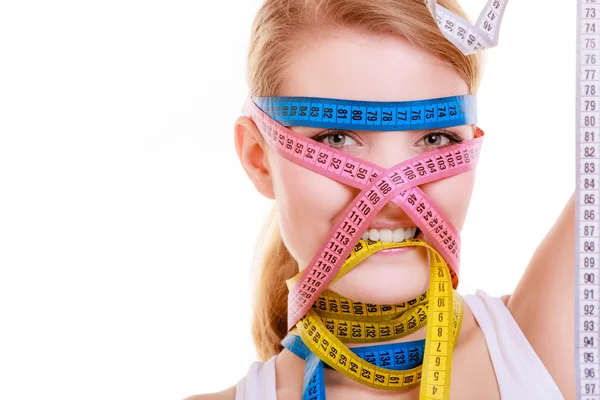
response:
M556 382L544 367L521 328L499 297L483 290L462 296L479 323L496 372L500 398L504 400L564 400ZM274 355L256 361L236 386L236 400L277 400Z

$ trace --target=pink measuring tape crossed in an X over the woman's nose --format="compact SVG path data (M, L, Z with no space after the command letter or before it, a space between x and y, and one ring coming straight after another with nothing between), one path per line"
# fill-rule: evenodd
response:
M428 242L447 261L453 287L458 285L460 235L450 220L418 186L474 169L484 133L384 169L297 134L272 119L248 97L243 112L257 124L280 155L304 168L361 189L329 231L327 240L304 269L288 296L288 330L327 289L373 217L389 201L402 208ZM302 124L298 124L302 125ZM414 128L413 128L414 129ZM375 130L375 129L374 129Z

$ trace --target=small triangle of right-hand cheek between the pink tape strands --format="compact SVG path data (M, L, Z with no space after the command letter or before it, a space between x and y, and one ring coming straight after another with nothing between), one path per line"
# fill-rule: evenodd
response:
M429 195L460 232L471 202L474 184L475 171L467 171L460 175L421 185L420 188Z

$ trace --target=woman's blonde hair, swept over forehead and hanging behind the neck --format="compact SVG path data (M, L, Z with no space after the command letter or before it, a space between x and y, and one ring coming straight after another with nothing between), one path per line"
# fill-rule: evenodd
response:
M467 19L456 0L439 0ZM323 25L360 29L374 34L403 36L426 53L451 66L476 94L481 79L481 53L465 56L440 32L424 0L265 0L254 19L248 52L248 83L253 96L280 95L288 53L301 34L316 33ZM285 280L298 263L286 248L277 222L276 206L267 218L255 249L260 268L254 296L252 336L262 361L278 354L287 334Z

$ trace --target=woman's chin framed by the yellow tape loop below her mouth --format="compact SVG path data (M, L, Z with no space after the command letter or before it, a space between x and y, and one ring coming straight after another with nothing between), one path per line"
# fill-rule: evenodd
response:
M329 285L329 289L364 303L398 304L412 300L429 288L429 264L427 258L402 263L394 260L400 257L371 256Z

